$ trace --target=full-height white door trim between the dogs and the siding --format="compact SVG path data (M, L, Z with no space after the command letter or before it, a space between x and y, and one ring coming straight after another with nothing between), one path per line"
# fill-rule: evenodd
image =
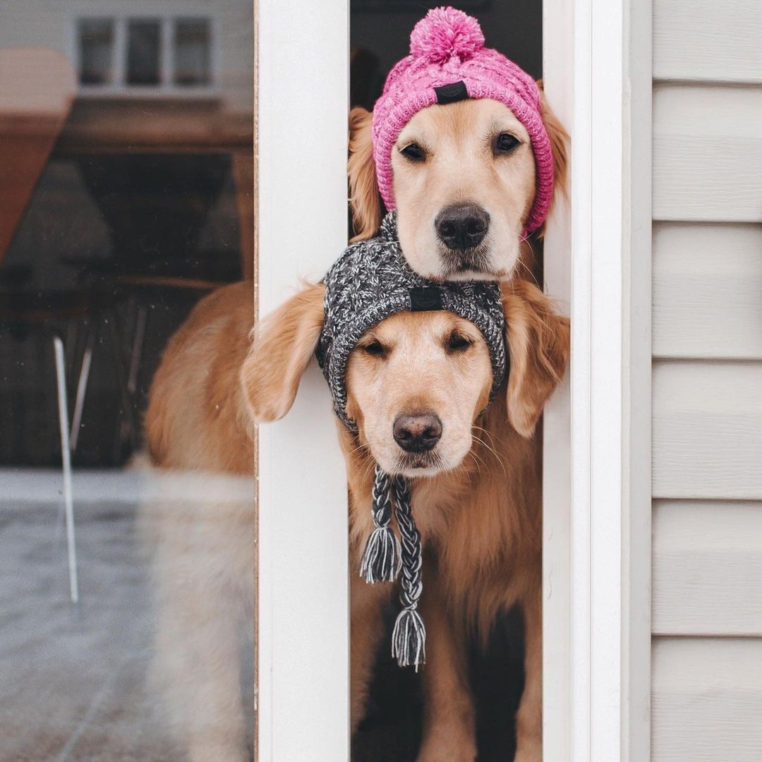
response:
M546 244L546 282L572 318L570 396L546 415L552 760L650 754L651 12L634 0L545 3L546 90L572 136L571 213Z

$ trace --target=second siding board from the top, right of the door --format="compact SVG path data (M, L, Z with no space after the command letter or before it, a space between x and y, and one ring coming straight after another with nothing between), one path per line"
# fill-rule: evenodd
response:
M659 85L653 104L654 219L762 222L762 89Z

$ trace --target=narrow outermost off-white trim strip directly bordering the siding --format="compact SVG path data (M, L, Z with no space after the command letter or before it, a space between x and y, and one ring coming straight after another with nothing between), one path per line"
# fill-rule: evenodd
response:
M652 0L624 20L623 759L651 760Z

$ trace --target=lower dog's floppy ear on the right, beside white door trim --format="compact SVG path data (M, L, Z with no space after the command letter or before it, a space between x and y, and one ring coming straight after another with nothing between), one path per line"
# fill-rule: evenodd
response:
M563 378L569 356L569 320L555 314L552 300L533 283L511 280L501 288L511 357L508 420L528 438Z

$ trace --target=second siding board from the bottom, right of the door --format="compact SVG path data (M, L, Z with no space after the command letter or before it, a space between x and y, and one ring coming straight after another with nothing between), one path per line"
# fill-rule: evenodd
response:
M655 501L653 533L655 635L762 636L762 502Z

